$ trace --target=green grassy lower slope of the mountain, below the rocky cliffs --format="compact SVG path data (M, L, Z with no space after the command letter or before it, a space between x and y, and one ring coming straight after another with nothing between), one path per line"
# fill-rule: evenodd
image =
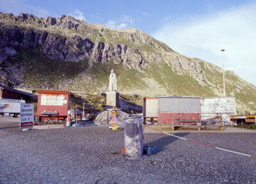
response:
M147 96L147 88L143 77L154 78L154 80L163 88L166 88L168 94L156 95L184 95L184 96L218 96L212 91L212 86L201 86L193 77L186 75L179 75L173 72L172 67L166 64L163 66L150 65L144 72L137 70L129 70L122 64L116 65L113 61L108 63L93 63L90 70L88 69L88 61L85 59L78 63L58 61L49 59L44 56L39 50L20 50L10 63L19 62L25 66L24 82L31 83L34 88L40 88L44 84L51 84L54 89L58 89L61 81L64 79L74 80L71 84L71 89L80 89L91 92L107 91L109 72L114 69L118 78L118 89L125 93L125 90L136 89L137 91L144 91ZM216 71L209 71L204 67L205 77L216 85L216 88L222 88L222 73ZM84 76L90 76L93 82L88 83L84 80ZM256 91L250 86L244 86L243 90L236 91L234 86L239 78L230 72L226 73L226 93L234 95L237 102L242 103L248 109L256 110L255 102ZM255 91L254 93L253 90ZM141 100L136 100L137 104L141 105Z

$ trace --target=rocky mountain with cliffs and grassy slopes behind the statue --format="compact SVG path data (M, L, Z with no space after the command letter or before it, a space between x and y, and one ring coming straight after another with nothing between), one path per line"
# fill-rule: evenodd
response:
M134 28L115 30L63 15L0 13L0 83L16 88L118 91L141 96L223 95L222 70L182 56ZM226 93L239 111L256 111L256 87L226 71Z

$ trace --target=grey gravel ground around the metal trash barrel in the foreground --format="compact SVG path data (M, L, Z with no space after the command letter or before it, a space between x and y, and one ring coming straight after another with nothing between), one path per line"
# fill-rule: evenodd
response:
M14 122L14 120L16 122ZM256 183L256 158L144 134L159 153L128 160L124 130L69 127L20 131L0 118L0 183ZM253 133L177 133L194 141L256 155Z

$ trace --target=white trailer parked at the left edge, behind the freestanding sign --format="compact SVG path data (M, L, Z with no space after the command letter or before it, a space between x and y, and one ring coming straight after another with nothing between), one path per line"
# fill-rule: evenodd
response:
M4 113L13 114L13 117L20 117L20 104L25 104L25 100L0 99L0 115Z

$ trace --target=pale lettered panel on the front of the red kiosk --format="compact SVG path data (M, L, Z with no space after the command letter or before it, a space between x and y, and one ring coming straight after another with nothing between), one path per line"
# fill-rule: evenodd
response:
M67 100L65 100L64 95L42 94L41 96L41 105L63 106L63 104L67 104Z

